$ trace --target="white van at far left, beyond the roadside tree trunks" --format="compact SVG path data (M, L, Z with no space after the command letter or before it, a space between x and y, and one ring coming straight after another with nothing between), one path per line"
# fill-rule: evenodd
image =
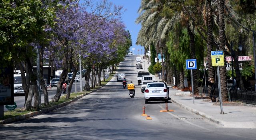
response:
M26 76L26 74L25 74ZM13 86L14 86L14 94L24 94L25 92L22 87L22 78L21 74L13 74Z

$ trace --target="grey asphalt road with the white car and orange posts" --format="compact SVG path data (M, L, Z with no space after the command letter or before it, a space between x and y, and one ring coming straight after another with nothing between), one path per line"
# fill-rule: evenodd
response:
M128 56L118 73L136 82L136 56ZM141 116L142 106L152 120ZM169 102L144 104L136 86L134 98L116 77L100 90L58 108L20 122L0 126L1 139L48 140L255 140L255 130L222 128Z

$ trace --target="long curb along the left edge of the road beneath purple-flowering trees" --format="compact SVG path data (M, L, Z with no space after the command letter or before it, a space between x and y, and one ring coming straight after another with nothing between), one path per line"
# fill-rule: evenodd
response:
M114 76L112 76L112 78L113 78L113 77L114 77ZM112 79L112 78L111 78L111 79ZM110 79L110 80L111 80L111 79ZM103 86L100 86L100 88L102 88L102 87L103 87ZM75 102L76 100L78 100L78 99L80 99L80 98L82 98L82 97L84 97L84 96L86 96L86 95L89 95L90 93L95 92L95 91L99 90L100 88L97 88L97 89L92 90L92 91L90 91L90 92L88 92L88 93L82 94L82 95L80 95L80 96L77 96L77 97L75 97L73 100L70 100L70 101L68 101L68 102L63 102L63 103L61 103L61 104L58 104L58 105L55 105L55 106L50 106L50 107L48 107L48 108L43 108L42 110L30 112L30 113L28 113L28 114L24 114L24 115L20 115L20 116L8 118L8 119L5 119L5 120L0 120L0 125L2 125L2 124L8 124L8 123L11 123L11 122L17 122L17 121L19 121L19 120L24 120L24 119L26 119L26 118L30 118L30 117L34 117L34 116L40 115L40 114L42 114L42 113L50 112L50 111L52 111L52 110L54 110L54 109L56 109L56 108L60 108L60 107L62 107L62 106L66 106L67 104L70 104L70 103L72 103L72 102Z

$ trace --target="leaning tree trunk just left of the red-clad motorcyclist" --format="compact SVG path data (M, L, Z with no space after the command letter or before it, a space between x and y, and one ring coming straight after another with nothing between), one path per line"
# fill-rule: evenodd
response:
M62 73L60 75L60 80L57 84L57 90L55 96L52 97L52 102L58 102L60 100L60 96L62 94L62 85L66 80L68 75L68 50L64 51L64 57L62 59Z

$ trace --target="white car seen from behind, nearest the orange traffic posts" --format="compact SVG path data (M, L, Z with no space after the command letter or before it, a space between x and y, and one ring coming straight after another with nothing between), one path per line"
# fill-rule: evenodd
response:
M169 87L164 82L151 82L146 85L144 92L145 104L148 101L165 101L170 100Z

